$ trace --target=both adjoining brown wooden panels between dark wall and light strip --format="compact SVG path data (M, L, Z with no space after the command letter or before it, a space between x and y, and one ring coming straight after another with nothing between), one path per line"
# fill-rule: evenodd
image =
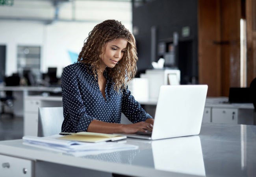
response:
M240 85L241 0L198 0L199 83L208 96Z

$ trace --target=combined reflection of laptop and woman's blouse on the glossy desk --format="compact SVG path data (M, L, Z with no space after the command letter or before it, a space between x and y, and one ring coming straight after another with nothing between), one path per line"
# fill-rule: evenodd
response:
M139 149L86 155L84 158L115 163L141 165L156 170L173 171L189 175L205 176L204 159L199 136L186 136L165 140L128 139L129 144L136 144ZM111 159L109 157L112 157Z

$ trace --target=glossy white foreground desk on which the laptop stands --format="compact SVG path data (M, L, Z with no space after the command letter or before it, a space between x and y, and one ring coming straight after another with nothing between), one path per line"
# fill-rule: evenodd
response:
M139 149L84 157L25 146L22 140L2 141L0 164L9 162L10 168L1 165L0 174L25 176L17 173L23 173L26 168L27 176L37 177L67 177L74 173L80 177L88 174L84 169L102 171L106 174L97 175L104 177L110 177L109 173L139 177L256 176L256 126L203 123L199 136L187 138L190 139L128 138L126 143L137 145ZM187 141L193 138L199 141Z

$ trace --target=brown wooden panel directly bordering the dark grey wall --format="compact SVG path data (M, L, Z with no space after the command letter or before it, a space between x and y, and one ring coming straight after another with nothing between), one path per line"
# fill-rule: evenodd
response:
M221 94L219 1L198 0L198 80L208 85L208 96Z

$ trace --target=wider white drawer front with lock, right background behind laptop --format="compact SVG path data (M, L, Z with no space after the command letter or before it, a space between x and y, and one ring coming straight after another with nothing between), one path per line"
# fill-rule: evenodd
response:
M212 108L212 122L224 124L238 123L237 109Z

